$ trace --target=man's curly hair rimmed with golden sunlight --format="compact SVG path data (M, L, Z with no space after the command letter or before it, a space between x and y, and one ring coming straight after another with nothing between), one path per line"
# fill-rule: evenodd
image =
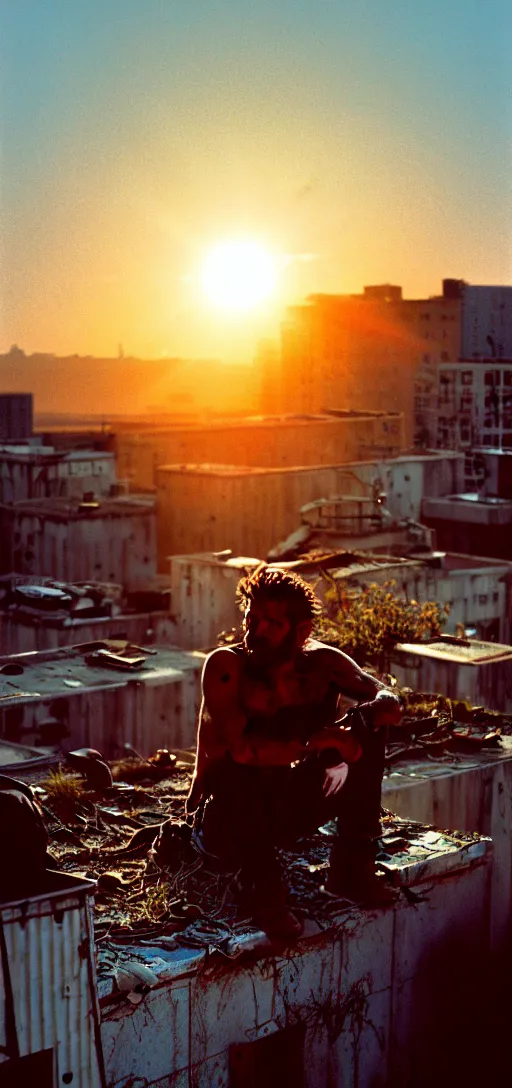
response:
M314 622L322 614L322 605L311 585L291 570L260 566L240 579L236 591L240 611L246 611L251 602L261 599L286 604L292 623L304 619Z

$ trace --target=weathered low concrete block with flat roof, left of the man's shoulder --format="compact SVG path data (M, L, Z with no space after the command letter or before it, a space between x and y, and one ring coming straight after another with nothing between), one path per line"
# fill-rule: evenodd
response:
M203 654L152 647L143 666L88 664L88 646L1 658L20 675L0 680L0 738L21 744L99 749L118 758L125 743L149 755L196 740Z

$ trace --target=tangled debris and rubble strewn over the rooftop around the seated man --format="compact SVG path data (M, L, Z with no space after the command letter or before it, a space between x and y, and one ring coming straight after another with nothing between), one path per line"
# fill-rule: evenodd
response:
M501 735L512 734L511 718L483 707L428 693L404 691L402 696L403 726L389 730L388 763L412 753L449 763L466 751L464 745L492 749ZM192 749L161 749L145 757L125 745L124 757L113 763L84 749L46 777L32 775L52 866L96 882L95 938L104 1001L137 1004L160 978L196 969L204 956L237 960L275 945L243 916L237 874L216 871L191 841L185 800L193 762ZM335 831L327 824L280 852L290 906L308 936L342 924L340 913L354 908L323 892ZM423 827L384 812L377 865L383 879L414 904L410 886L424 879L425 868L428 878L448 871L452 856L460 864L461 851L473 856L480 845L477 834Z

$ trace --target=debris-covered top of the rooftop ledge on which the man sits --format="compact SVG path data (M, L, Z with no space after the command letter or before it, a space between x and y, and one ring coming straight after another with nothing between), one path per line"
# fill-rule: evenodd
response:
M200 960L214 952L235 960L257 947L263 953L272 948L240 913L233 874L209 868L193 843L178 871L166 868L158 851L149 849L163 820L179 821L184 816L193 752L178 752L176 757L171 770L140 758L111 764L114 786L102 795L70 774L75 787L67 800L51 776L40 775L36 781L33 775L57 867L98 880L95 936L99 992L104 999L116 989L120 962L133 960L135 949L148 965L158 957L160 967L153 966L164 977L168 970L177 975L183 969L184 949L202 950ZM63 834L63 827L70 833ZM354 911L352 903L328 899L321 890L335 833L334 825L326 824L292 850L280 851L290 904L305 919L307 937L332 928ZM460 868L464 858L467 864L487 849L477 834L442 832L391 813L384 816L379 846L379 868L398 888L425 879L425 869L432 879ZM159 955L157 948L165 952ZM190 966L186 964L185 973Z

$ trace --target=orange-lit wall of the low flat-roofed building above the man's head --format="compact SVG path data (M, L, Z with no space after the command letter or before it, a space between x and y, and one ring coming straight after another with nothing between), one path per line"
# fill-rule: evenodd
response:
M301 507L322 497L364 497L375 489L386 494L391 518L417 521L424 495L459 486L463 461L460 454L434 453L302 468L163 466L157 478L159 570L168 570L171 555L224 548L265 559L295 532Z

